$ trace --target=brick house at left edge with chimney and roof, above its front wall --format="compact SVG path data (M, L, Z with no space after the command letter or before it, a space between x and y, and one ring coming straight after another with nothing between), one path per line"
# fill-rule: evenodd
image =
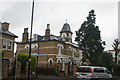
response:
M4 59L13 59L15 38L18 36L9 31L9 23L4 22L1 25L0 39L2 47L0 50L4 50Z

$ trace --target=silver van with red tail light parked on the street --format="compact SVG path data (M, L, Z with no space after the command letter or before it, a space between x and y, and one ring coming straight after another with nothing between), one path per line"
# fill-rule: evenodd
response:
M111 79L112 75L110 71L105 67L98 66L79 66L77 67L77 72L75 73L76 78L92 80L92 79Z

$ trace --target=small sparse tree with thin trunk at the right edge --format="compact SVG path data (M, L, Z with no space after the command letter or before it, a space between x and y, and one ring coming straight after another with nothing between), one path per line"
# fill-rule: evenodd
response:
M119 44L120 44L120 41L118 39L115 39L112 45L113 49L115 50L115 63L116 64L117 64L117 56L118 56L118 53L120 52Z

